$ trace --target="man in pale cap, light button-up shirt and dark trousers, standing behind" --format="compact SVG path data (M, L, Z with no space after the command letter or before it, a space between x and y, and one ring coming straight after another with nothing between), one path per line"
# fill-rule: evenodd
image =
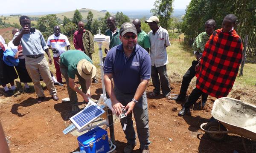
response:
M151 45L149 52L151 57L151 78L154 90L150 96L157 96L162 90L162 94L166 99L172 99L166 69L166 64L169 63L166 47L171 45L168 31L158 26L159 19L156 16L150 17L145 23L148 23L148 26L151 28L151 31L148 32L148 37Z

